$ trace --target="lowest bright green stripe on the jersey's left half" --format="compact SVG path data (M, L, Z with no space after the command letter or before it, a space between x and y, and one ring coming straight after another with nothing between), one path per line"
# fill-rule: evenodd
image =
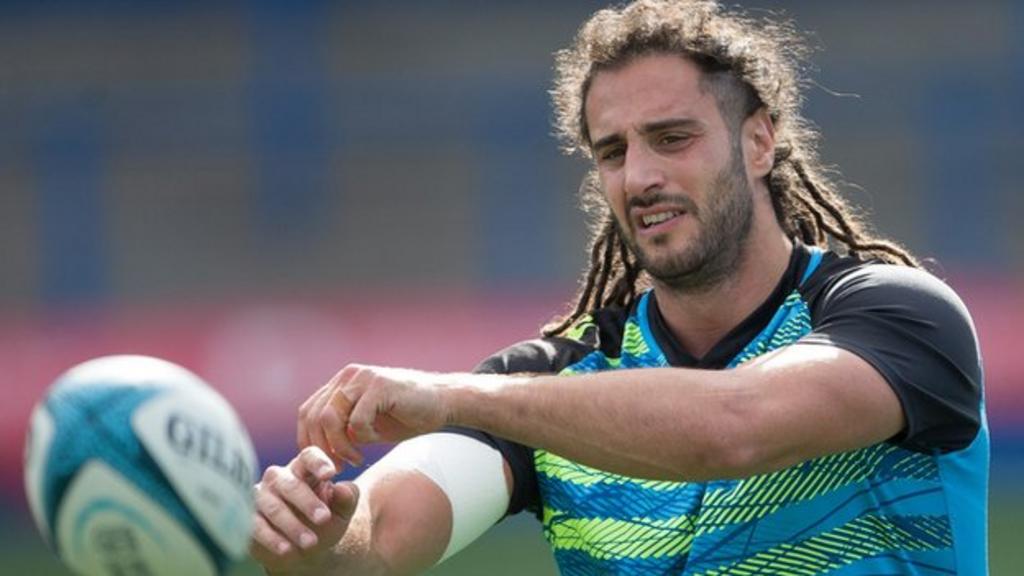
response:
M689 550L693 519L664 521L561 518L545 506L545 536L555 550L581 550L598 560L679 556Z

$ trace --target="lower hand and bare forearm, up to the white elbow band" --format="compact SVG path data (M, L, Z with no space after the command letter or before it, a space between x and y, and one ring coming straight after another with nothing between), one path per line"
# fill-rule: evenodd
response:
M382 462L354 483L316 448L256 487L253 558L269 574L411 574L440 559L452 505L425 475Z

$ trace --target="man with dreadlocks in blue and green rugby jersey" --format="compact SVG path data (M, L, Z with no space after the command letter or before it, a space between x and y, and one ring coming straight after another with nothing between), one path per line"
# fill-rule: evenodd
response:
M476 374L314 393L257 487L268 571L416 572L531 509L564 574L984 574L970 317L850 217L798 51L714 2L587 22L553 92L606 215L574 312Z

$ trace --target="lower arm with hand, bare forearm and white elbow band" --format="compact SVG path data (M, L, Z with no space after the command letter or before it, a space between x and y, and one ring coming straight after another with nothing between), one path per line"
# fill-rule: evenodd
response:
M310 447L264 472L252 553L268 573L419 573L498 522L512 491L497 450L452 434L399 445L354 483L336 471Z

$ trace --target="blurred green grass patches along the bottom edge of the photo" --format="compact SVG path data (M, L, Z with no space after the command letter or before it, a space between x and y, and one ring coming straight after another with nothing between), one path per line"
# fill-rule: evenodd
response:
M1024 573L1024 493L993 493L989 506L990 570L993 576ZM43 544L35 529L24 522L7 520L0 526L0 559L4 574L62 576L61 568ZM246 563L231 576L262 574L258 566ZM540 525L525 515L510 519L492 530L462 553L434 568L430 576L543 576L557 574L554 562L541 537Z

